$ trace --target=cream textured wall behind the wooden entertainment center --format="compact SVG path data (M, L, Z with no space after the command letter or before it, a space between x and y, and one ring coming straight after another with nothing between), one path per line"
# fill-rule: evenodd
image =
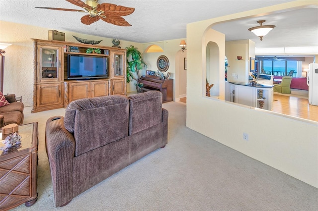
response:
M4 83L3 93L22 96L24 106L33 105L33 83L34 83L34 46L32 38L48 40L49 28L36 27L25 24L17 24L0 21L0 42L10 43L5 49ZM112 46L113 38L96 37L92 35L79 34L55 29L65 33L65 41L79 43L72 35L89 39L103 40L99 45ZM133 45L142 49L142 44L128 41L120 41L121 48ZM130 92L132 83L127 84L127 92ZM133 86L132 89L135 89Z

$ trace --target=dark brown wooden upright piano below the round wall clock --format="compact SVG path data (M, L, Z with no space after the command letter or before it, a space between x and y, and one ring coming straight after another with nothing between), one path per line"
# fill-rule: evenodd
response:
M142 92L157 90L162 93L162 103L173 101L173 79L160 79L157 76L142 76L139 83L144 84Z

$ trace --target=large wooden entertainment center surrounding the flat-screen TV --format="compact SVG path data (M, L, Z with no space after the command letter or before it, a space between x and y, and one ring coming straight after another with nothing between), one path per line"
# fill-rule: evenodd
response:
M98 45L32 39L35 48L32 113L66 107L72 101L126 95L126 50ZM88 48L101 53L86 53ZM68 55L108 58L108 77L68 80Z

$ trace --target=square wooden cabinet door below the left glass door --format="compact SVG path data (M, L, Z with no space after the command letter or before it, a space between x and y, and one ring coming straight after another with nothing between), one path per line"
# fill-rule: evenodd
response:
M63 106L61 83L37 85L37 107Z

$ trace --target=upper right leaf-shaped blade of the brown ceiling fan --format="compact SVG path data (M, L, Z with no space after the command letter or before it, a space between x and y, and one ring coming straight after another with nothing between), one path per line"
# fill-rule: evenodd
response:
M112 3L101 3L97 6L97 11L104 11L106 16L126 16L135 11L133 7L126 7Z

